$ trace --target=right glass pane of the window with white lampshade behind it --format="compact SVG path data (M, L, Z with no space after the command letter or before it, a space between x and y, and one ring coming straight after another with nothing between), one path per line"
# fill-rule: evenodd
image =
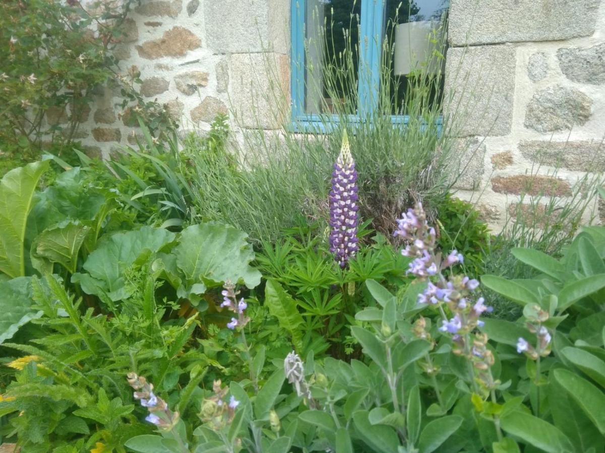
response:
M382 111L408 114L411 90L440 102L445 63L448 0L387 0L384 19ZM387 86L385 86L387 85Z

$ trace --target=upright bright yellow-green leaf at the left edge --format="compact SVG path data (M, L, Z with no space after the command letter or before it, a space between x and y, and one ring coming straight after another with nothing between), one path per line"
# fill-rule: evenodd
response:
M25 275L25 227L36 185L49 162L10 170L0 181L0 272Z

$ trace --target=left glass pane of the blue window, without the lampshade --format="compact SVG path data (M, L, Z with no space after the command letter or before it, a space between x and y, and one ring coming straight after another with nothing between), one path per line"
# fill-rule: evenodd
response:
M306 1L305 113L356 112L360 12L360 0Z

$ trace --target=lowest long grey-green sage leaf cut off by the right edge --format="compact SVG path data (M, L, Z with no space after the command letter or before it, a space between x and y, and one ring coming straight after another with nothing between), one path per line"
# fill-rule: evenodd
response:
M554 370L555 380L578 403L601 434L605 435L605 393L569 370Z

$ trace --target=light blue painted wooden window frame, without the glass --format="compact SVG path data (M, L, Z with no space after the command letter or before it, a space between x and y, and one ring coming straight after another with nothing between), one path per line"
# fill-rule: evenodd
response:
M351 114L351 124L371 119L378 109L380 89L380 62L385 28L385 0L361 1L359 13L359 74L358 111ZM330 132L338 123L338 115L310 114L305 111L305 18L307 0L291 0L290 94L292 99L292 127L296 132ZM393 124L408 124L408 115L391 115ZM442 118L437 121L440 133Z

